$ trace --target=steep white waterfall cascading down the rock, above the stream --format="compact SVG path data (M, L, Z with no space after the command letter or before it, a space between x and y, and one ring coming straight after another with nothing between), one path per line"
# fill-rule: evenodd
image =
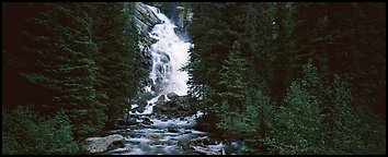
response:
M163 22L155 25L150 33L152 38L158 39L150 49L152 55L150 78L153 84L162 86L162 94L173 92L180 96L186 95L189 75L179 69L189 61L189 50L192 44L185 43L176 36L174 32L176 25L160 13L158 8L147 7Z

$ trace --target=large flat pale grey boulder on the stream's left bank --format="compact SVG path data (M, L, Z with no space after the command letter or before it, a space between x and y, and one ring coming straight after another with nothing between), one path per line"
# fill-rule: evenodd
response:
M102 153L121 146L124 146L124 136L119 134L113 134L105 137L89 137L83 142L83 147L89 153Z

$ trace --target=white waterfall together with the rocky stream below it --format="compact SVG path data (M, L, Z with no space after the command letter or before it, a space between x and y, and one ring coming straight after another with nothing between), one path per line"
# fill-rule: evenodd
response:
M149 77L152 85L145 90L152 94L147 105L134 104L128 117L133 124L112 130L125 136L125 146L109 150L107 155L198 155L221 153L224 143L210 141L209 133L194 130L196 119L203 116L197 111L191 116L171 118L153 112L159 102L170 101L169 94L175 97L187 95L189 75L179 69L189 61L191 43L181 39L174 32L176 27L158 8L147 5L163 23L155 25L149 36L157 39L151 45L152 71ZM160 97L163 97L160 99ZM208 153L201 153L206 152Z

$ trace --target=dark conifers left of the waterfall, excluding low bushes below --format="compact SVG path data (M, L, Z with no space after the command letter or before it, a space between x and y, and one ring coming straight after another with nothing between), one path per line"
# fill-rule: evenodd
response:
M27 13L12 35L18 46L4 48L11 51L4 69L13 94L7 90L4 106L34 104L47 116L62 109L78 140L121 117L147 76L132 21L134 3L23 3L15 9Z

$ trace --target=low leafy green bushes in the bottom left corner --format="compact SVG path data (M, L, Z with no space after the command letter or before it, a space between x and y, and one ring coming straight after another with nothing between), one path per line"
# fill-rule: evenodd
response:
M3 108L2 135L2 154L55 155L80 150L64 111L43 118L23 106L12 112Z

